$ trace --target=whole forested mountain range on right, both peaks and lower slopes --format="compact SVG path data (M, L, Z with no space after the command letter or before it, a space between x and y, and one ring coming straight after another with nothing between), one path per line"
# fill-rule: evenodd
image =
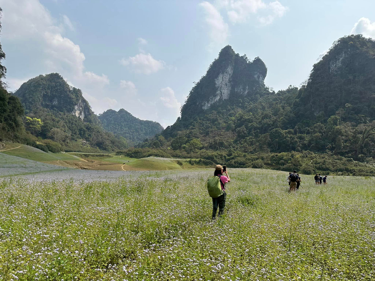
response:
M226 46L190 91L181 118L142 143L138 155L305 173L358 174L359 166L375 172L374 40L351 35L334 42L300 89L275 93L264 85L266 73L260 58L249 61Z

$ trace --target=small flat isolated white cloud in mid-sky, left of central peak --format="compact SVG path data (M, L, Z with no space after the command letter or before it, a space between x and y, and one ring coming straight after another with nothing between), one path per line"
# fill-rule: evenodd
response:
M132 70L136 73L151 74L158 72L163 69L165 62L162 60L155 60L150 53L143 54L139 53L134 57L129 57L126 59L121 59L120 63L124 66L130 66Z

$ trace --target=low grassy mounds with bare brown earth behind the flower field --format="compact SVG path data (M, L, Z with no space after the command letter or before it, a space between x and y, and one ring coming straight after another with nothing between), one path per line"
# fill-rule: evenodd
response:
M1 154L39 161L63 167L72 167L86 170L110 170L110 171L136 171L136 170L174 170L174 169L196 169L206 167L205 165L191 165L187 160L176 160L168 158L128 158L114 153L52 153L44 152L37 148L21 145L19 143L7 143L7 148L0 151ZM179 163L179 164L178 164ZM1 164L1 159L0 159Z

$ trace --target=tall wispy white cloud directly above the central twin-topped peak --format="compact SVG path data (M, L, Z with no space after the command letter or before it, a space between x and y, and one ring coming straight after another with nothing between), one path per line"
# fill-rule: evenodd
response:
M220 12L207 1L199 3L205 12L205 22L209 27L209 36L211 40L210 47L213 45L223 45L228 37L228 24L223 20Z

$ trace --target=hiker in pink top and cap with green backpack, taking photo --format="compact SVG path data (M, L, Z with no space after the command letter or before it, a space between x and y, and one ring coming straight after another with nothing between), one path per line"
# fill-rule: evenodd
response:
M225 172L226 176L223 176L223 172ZM228 176L226 167L223 169L221 165L216 165L214 176L207 180L207 191L210 197L212 197L213 220L216 218L217 207L219 207L219 216L224 213L226 199L225 184L230 181L231 179Z

